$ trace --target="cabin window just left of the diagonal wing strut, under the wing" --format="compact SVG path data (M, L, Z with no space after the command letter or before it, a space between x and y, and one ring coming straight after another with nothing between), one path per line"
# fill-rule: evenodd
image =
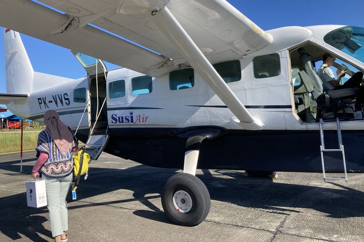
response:
M195 76L192 68L177 70L169 73L169 89L182 90L195 85Z

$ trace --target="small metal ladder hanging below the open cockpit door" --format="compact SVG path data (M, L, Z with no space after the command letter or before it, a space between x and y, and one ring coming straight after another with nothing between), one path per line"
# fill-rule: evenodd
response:
M338 118L336 118L336 127L337 127L337 136L339 141L339 149L325 149L325 140L324 140L324 124L322 119L320 119L320 136L321 136L321 162L322 162L322 174L324 181L326 180L345 180L347 181L347 166L345 161L345 152L344 152L344 145L343 140L341 138L341 128L340 128L340 121ZM345 177L326 177L325 174L325 163L324 163L324 152L341 152L343 154L343 163L344 163L344 173Z

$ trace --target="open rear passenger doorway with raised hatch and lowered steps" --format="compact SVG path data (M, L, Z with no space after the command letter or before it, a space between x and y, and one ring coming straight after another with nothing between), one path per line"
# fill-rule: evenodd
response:
M107 68L99 59L72 50L71 52L80 61L88 76L87 113L90 133L85 151L91 159L97 160L109 139L106 104Z

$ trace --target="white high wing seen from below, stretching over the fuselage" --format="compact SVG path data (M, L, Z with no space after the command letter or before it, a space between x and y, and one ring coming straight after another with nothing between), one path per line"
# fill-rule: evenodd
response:
M158 0L41 2L50 7L31 0L0 0L0 25L149 76L189 65L150 20L150 11L132 5ZM211 63L237 59L271 41L225 0L170 0L167 6Z

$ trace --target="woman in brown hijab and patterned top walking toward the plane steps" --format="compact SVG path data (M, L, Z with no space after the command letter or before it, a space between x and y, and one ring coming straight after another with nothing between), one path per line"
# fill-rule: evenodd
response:
M46 181L47 207L50 227L55 242L66 242L68 229L66 195L72 181L73 161L71 148L75 146L73 134L59 120L55 110L44 114L46 129L39 133L36 148L38 160L33 166L32 177L42 174Z

